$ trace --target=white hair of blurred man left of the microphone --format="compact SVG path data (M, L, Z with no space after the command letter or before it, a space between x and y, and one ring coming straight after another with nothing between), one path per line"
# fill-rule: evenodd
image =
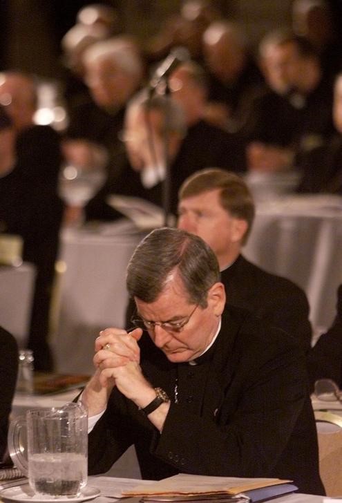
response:
M108 59L115 61L125 73L141 77L144 66L139 51L133 41L124 37L113 37L108 40L98 41L84 51L82 60L84 64Z

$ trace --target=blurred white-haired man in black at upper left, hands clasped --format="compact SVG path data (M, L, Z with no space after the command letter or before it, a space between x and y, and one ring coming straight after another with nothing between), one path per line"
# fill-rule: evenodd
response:
M115 171L126 104L142 84L142 57L132 39L113 37L88 47L82 64L91 99L69 111L64 156L71 164L98 162Z

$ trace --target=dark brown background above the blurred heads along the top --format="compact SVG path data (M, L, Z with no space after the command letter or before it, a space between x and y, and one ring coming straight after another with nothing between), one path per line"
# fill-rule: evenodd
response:
M17 68L58 78L60 41L86 0L0 0L0 69ZM117 9L123 31L146 39L178 12L181 0L104 0ZM292 0L211 0L223 15L241 21L254 46L267 30L287 26ZM342 31L342 0L330 0Z

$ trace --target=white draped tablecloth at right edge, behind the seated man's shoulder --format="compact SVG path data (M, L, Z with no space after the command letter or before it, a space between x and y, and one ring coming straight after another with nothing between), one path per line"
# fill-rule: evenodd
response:
M301 286L314 328L330 326L342 283L342 198L285 196L260 202L244 254Z

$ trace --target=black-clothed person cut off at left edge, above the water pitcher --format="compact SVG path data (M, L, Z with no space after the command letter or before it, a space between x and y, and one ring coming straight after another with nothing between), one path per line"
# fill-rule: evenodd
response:
M18 345L15 338L0 327L0 378L2 384L0 398L0 462L5 461L7 434L12 400L18 373Z

